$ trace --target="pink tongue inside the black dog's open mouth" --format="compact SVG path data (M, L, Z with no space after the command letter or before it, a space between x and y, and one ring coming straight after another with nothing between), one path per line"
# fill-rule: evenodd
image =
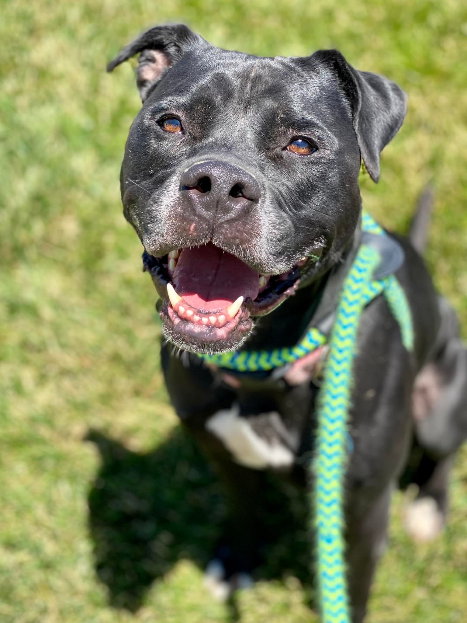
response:
M219 312L238 297L254 300L259 290L258 273L213 244L183 249L173 280L177 294L205 312Z

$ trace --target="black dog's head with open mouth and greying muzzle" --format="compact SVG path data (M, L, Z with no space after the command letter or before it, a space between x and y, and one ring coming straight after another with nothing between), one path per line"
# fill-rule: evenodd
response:
M336 50L262 58L186 26L145 32L143 107L121 168L164 333L184 350L242 344L252 318L329 270L352 245L361 159L374 181L405 97Z

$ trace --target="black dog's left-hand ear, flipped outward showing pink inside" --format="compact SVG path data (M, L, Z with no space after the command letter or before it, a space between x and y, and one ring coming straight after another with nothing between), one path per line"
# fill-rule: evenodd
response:
M144 102L167 69L179 61L187 50L202 44L206 41L184 24L156 26L124 47L107 65L107 71L113 71L117 65L141 52L136 67L136 84Z

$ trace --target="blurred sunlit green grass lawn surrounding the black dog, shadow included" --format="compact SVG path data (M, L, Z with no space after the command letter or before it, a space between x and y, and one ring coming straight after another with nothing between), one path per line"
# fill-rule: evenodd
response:
M146 27L182 21L260 55L337 47L409 95L364 204L407 227L433 181L427 259L467 335L467 5L463 0L1 0L0 620L314 621L290 574L212 601L199 566L222 515L159 373L153 286L121 216L118 174L139 108ZM467 454L443 537L414 545L395 497L372 623L467 619Z

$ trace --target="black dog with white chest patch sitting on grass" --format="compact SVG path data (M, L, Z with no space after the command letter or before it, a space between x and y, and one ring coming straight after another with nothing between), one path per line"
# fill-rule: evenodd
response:
M210 571L235 587L257 566L267 538L257 504L266 473L306 480L301 457L313 449L316 362L235 376L192 353L293 346L333 311L361 239L361 161L378 181L405 95L352 69L336 50L261 58L214 47L185 26L149 30L108 70L137 53L143 107L126 143L121 196L161 299L172 402L232 500ZM413 239L423 235L415 227ZM356 623L398 478L405 468L404 482L419 486L408 527L434 536L451 457L467 435L467 356L455 315L417 250L399 244L414 353L379 297L362 316L354 366L346 525Z

